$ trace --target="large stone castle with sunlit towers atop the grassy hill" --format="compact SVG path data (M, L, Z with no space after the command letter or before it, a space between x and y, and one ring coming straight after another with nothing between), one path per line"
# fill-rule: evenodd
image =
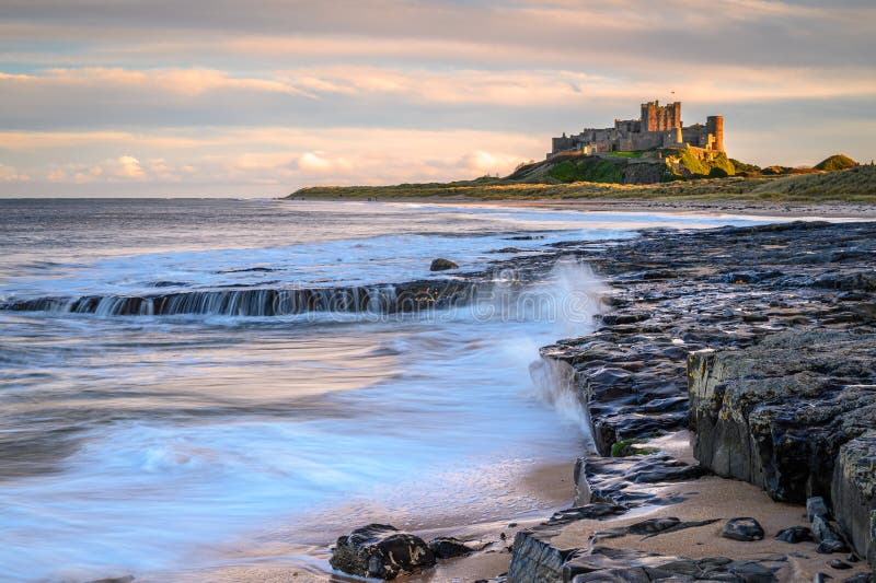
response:
M724 116L710 116L705 125L681 124L681 102L660 105L642 104L639 119L615 119L613 128L588 128L577 136L553 138L551 158L561 152L629 152L658 148L699 148L706 152L724 152ZM704 152L705 153L705 152Z

